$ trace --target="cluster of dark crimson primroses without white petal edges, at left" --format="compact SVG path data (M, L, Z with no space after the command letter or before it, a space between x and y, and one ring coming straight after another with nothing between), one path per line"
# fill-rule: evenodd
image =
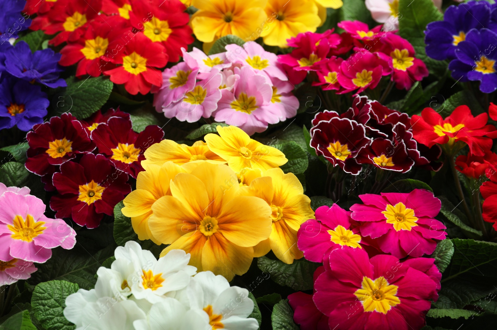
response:
M155 125L134 132L120 110L98 111L87 122L64 113L28 133L26 168L42 177L46 190L57 190L50 208L58 218L95 228L131 192L127 181L143 170L145 150L163 138Z

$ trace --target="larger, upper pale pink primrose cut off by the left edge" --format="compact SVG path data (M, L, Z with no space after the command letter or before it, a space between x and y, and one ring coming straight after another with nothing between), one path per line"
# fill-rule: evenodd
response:
M32 195L5 191L0 196L0 260L42 263L52 256L52 248L74 247L76 232L61 219L47 218L45 208Z

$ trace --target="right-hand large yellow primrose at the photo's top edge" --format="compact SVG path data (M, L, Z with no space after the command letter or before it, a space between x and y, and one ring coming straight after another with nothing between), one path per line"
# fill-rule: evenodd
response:
M321 24L314 0L268 0L264 9L269 28L260 36L269 46L287 47L287 39L303 32L316 32Z

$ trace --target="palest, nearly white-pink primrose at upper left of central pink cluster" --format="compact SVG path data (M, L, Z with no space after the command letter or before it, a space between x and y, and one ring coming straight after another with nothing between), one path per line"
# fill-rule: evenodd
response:
M198 69L197 79L206 79L213 68L223 70L231 67L231 63L226 61L226 53L206 55L196 47L193 47L191 52L186 52L184 48L181 48L181 51L183 52L183 61L190 68Z

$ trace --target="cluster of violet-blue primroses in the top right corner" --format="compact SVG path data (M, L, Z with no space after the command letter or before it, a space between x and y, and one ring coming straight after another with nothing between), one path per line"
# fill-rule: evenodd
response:
M449 70L459 82L479 81L480 90L497 89L497 5L469 1L452 5L443 21L426 25L426 54L450 60Z

